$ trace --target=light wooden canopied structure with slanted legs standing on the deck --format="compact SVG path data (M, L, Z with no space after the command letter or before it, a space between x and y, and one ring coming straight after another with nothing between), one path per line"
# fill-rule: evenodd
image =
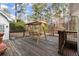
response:
M26 25L27 25L27 31L29 32L29 35L34 39L35 37L37 37L37 43L41 37L41 35L44 35L45 39L47 40L47 37L46 37L46 32L45 32L45 29L44 29L44 26L42 25L45 25L47 24L45 21L31 21L31 22L28 22ZM41 28L43 31L41 31Z

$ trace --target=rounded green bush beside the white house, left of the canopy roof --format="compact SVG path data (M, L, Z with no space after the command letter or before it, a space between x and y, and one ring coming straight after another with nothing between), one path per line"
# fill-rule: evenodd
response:
M11 31L24 31L25 30L25 23L21 20L18 22L11 22L10 23L10 30Z

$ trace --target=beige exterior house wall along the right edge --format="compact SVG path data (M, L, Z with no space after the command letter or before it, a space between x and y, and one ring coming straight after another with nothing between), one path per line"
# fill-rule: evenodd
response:
M77 46L78 46L78 54L79 54L79 3L70 4L70 11L72 16L77 17Z

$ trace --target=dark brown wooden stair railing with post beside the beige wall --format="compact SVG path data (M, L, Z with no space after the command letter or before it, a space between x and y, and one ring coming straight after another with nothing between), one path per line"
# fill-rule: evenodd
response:
M78 55L77 54L77 32L58 31L59 34L59 50L62 55Z

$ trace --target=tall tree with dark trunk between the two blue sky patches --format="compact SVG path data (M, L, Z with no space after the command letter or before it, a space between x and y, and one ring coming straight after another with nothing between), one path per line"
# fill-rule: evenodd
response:
M24 20L26 19L26 16L24 16L26 14L26 6L27 4L25 3L16 3L15 4L15 16L17 19L19 20Z

